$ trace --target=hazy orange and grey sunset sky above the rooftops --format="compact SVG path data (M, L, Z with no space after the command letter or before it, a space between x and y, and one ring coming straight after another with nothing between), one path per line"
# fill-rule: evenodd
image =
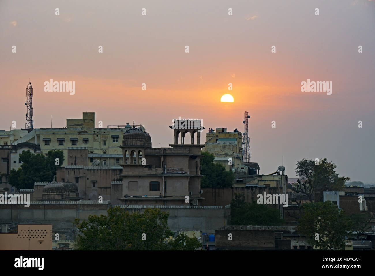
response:
M297 161L325 157L375 182L375 0L1 0L0 39L2 130L24 126L30 78L35 128L96 112L104 127L145 125L160 147L173 118L243 131L247 110L260 173L283 154L290 178ZM51 78L75 94L44 92ZM307 79L332 81L332 95L301 92ZM234 103L220 103L227 93Z

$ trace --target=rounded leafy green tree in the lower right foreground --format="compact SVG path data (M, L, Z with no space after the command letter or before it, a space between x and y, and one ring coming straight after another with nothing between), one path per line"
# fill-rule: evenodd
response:
M352 226L344 210L332 201L306 203L302 207L298 231L306 235L306 241L317 249L344 249L345 236Z

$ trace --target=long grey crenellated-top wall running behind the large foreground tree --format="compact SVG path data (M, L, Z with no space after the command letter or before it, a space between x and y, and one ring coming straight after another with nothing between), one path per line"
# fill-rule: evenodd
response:
M120 186L120 185L118 185ZM72 244L76 237L76 229L72 222L76 219L88 219L89 215L107 215L110 204L30 204L0 205L0 223L52 224L53 234L60 235L58 243ZM126 208L130 213L144 211L144 208ZM169 212L168 226L172 231L197 230L214 233L216 229L227 225L230 219L230 208L161 208ZM0 243L1 244L1 243Z

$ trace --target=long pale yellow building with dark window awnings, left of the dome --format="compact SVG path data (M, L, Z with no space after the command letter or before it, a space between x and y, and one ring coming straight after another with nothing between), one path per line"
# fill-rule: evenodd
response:
M35 145L38 145L38 148L40 146L40 152L45 155L53 149L62 150L65 160L60 166L79 165L74 163L75 160L68 163L68 148L89 149L88 166L91 166L95 159L100 161L101 166L116 166L122 163L122 152L118 148L122 145L122 134L131 127L127 124L96 128L95 112L83 112L81 119L66 119L66 128L35 128L15 140L13 145L17 145L17 148L11 153L10 167L18 169L21 166L19 154L28 148L33 149ZM141 125L136 128L145 131ZM33 153L38 152L39 149Z

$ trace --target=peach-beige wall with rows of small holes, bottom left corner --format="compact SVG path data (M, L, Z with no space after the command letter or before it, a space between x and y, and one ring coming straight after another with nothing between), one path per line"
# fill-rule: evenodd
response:
M52 224L19 224L17 233L0 233L1 250L52 250Z

